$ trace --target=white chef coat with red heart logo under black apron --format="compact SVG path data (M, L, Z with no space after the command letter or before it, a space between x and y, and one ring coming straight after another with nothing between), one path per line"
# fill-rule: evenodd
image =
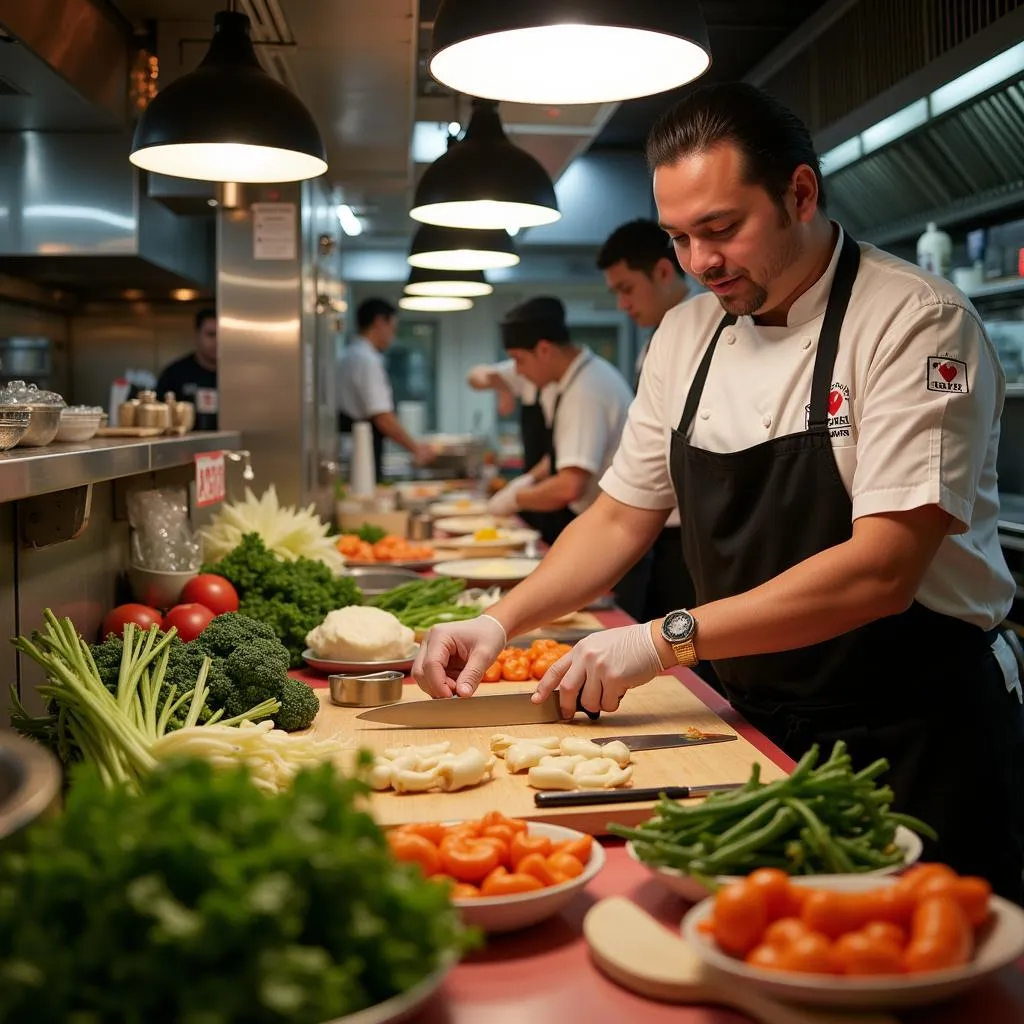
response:
M723 332L691 444L738 452L806 429L816 343L842 242L841 231L827 270L794 303L784 327L742 316ZM963 293L873 246L861 244L860 251L828 403L853 518L923 505L948 512L950 534L916 598L991 629L1015 593L996 529L1001 367ZM722 316L715 296L706 294L662 322L622 445L601 480L612 498L650 509L675 503L671 434Z

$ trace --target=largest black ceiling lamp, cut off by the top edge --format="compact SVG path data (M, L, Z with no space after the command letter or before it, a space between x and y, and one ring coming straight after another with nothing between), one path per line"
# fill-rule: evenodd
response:
M697 0L442 0L430 54L456 92L517 103L649 96L711 66Z

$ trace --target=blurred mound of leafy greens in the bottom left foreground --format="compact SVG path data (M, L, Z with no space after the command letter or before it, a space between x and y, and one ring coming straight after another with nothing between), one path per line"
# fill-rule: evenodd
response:
M317 1024L408 990L475 937L367 792L323 767L268 798L180 762L135 796L80 766L0 854L0 1020Z

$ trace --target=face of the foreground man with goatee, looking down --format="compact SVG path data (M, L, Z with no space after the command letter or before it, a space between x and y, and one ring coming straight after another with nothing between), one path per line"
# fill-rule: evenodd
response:
M680 264L736 316L769 313L804 284L804 240L818 209L806 165L781 202L743 170L740 151L721 142L654 172L658 217Z

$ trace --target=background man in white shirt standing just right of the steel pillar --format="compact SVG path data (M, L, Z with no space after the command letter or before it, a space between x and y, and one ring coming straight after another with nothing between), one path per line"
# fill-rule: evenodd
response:
M385 299L367 299L355 311L358 336L338 360L338 432L350 434L352 424L368 421L374 432L374 463L381 476L384 438L390 437L412 453L417 465L426 465L434 458L429 444L421 444L394 415L394 396L384 352L394 341L398 330L398 310Z

